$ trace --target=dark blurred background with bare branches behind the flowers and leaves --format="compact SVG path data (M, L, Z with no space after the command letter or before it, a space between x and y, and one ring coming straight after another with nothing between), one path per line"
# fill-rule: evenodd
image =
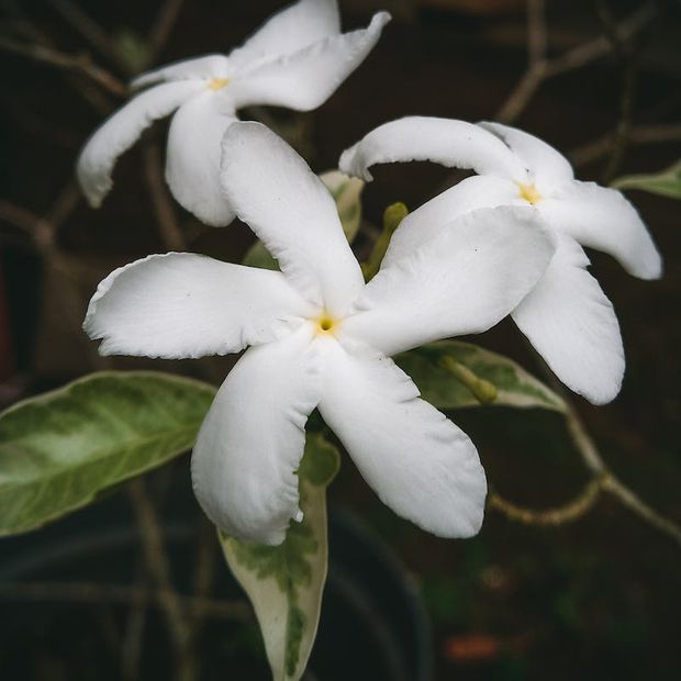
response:
M121 158L99 211L82 199L74 164L125 100L120 83L157 64L228 52L282 5L0 0L3 408L102 368L223 379L230 359L104 361L80 324L113 268L169 249L239 261L253 243L248 228L204 227L170 199L167 122ZM405 114L515 123L565 152L578 177L602 183L681 157L678 1L340 0L340 8L345 27L366 24L377 9L393 13L366 63L319 111L243 112L275 127L317 171ZM377 168L364 192L359 255L389 203L415 208L460 177L429 164ZM617 477L681 521L681 203L640 191L628 198L666 273L643 282L590 254L618 313L627 373L612 404L574 403ZM510 323L475 342L540 372ZM557 414L485 408L455 417L493 488L516 504L560 506L588 481ZM308 679L681 678L673 529L601 495L555 526L490 510L477 538L446 542L397 518L347 457L343 464L330 490L331 573ZM160 583L146 550L155 538L171 567ZM0 678L174 678L159 610L169 590L191 630L185 679L268 678L249 606L191 495L188 457L44 531L0 540Z

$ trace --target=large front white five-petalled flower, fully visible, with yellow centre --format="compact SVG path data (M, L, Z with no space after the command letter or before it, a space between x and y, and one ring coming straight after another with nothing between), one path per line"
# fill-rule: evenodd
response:
M487 485L476 448L389 357L482 332L515 308L554 253L536 211L469 213L365 284L330 192L300 156L259 123L235 123L223 147L227 198L281 271L153 255L100 283L86 331L104 355L249 346L192 458L197 496L227 534L278 544L300 520L295 471L315 408L398 514L445 537L477 533Z

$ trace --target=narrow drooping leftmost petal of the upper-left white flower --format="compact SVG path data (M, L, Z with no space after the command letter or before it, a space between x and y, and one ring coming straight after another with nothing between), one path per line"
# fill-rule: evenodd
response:
M172 113L201 87L188 80L159 85L134 97L94 131L80 153L76 167L78 181L90 205L99 208L113 186L111 171L118 157L154 121Z

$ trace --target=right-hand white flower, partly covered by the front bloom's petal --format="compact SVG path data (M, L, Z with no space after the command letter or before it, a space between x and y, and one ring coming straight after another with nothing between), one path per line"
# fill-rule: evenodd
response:
M661 276L660 255L634 206L614 189L574 179L545 142L499 123L405 118L386 123L340 157L340 169L371 179L373 164L433 160L472 168L470 177L411 213L394 234L386 266L438 235L468 211L534 205L555 231L556 255L512 316L556 376L594 404L619 392L624 350L610 300L587 271L582 246L611 254L641 279Z

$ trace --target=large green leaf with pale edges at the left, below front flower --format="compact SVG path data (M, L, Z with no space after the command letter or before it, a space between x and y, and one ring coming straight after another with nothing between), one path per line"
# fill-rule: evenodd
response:
M0 415L0 535L94 501L194 443L215 389L153 371L101 372Z

